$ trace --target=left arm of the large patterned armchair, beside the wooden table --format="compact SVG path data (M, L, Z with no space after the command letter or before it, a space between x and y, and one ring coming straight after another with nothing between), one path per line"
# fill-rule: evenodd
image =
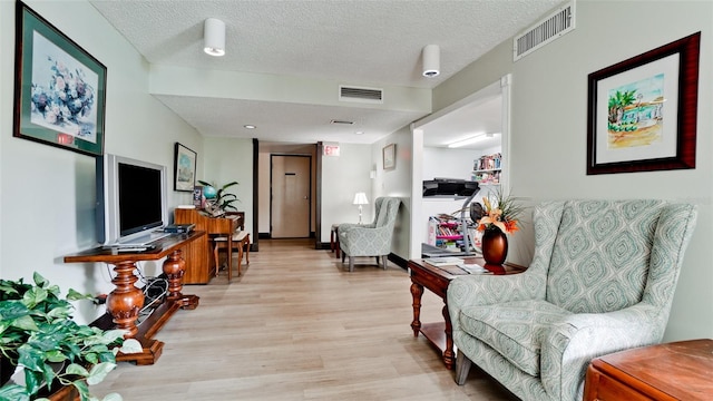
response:
M463 307L544 299L545 280L544 272L536 270L527 270L519 274L473 274L453 278L447 293L448 313L453 331L459 330L458 316Z

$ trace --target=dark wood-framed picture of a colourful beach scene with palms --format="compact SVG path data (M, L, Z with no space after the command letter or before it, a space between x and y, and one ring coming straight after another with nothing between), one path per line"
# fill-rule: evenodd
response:
M589 74L587 175L695 168L701 32Z

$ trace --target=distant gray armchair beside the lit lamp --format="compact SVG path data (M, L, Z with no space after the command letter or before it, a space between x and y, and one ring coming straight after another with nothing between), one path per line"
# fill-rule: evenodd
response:
M349 257L349 271L354 271L354 257L374 256L387 268L387 257L391 253L391 237L397 222L401 200L393 197L379 197L374 200L375 218L371 224L340 224L339 245L342 250L342 263Z

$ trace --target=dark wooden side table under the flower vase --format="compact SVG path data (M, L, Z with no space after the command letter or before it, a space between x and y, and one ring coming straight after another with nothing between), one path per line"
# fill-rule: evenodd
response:
M525 271L522 266L508 263L502 266L489 266L485 264L486 261L484 261L482 257L466 256L463 260L469 264L477 263L485 266L490 270L492 274L514 274ZM453 369L456 354L453 353L452 325L450 323L450 315L448 314L446 293L450 281L458 277L458 275L432 266L423 262L423 260L409 261L409 275L411 276L411 295L413 297L413 322L411 322L413 336L418 336L419 332L422 333L428 341L442 351L446 368ZM424 287L443 300L442 322L421 324L421 296L423 295Z

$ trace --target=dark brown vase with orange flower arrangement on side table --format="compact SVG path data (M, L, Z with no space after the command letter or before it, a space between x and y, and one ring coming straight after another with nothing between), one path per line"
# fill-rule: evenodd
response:
M482 198L484 216L478 221L482 232L482 258L486 264L501 265L508 255L508 238L519 229L518 218L524 207L517 199L497 190Z

